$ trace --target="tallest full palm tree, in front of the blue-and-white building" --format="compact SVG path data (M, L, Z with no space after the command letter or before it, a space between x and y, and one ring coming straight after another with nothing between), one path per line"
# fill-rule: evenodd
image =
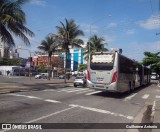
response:
M58 36L61 40L62 49L65 51L65 60L67 60L67 56L69 54L69 46L78 46L81 47L83 41L78 39L77 37L83 36L84 33L79 29L79 26L75 23L74 20L65 19L65 23L60 22L60 26L56 26ZM66 74L67 63L65 65L65 74ZM66 83L66 76L65 76Z

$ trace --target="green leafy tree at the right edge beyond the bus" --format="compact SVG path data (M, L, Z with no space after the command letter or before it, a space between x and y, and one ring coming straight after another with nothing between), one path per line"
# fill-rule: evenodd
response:
M144 52L145 58L142 60L144 66L150 66L152 72L160 74L160 52Z

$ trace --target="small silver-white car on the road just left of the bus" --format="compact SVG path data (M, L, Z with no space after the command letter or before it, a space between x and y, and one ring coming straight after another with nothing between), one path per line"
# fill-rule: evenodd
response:
M73 82L74 87L77 86L83 86L86 87L87 86L87 81L86 78L84 76L77 76Z

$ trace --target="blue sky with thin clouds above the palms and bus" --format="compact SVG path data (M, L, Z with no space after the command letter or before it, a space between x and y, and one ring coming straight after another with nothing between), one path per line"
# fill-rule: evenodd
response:
M106 48L121 48L125 56L142 61L143 53L160 51L160 0L30 0L23 5L26 27L35 33L31 46L17 40L17 45L31 52L65 18L75 20L86 43L90 35L103 37ZM27 58L28 51L19 50ZM32 55L34 55L32 53Z

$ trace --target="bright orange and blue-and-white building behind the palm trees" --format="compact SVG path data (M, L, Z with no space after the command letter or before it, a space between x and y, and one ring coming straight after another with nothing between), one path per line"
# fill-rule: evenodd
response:
M59 61L57 60L59 59ZM84 50L81 48L71 48L70 53L67 55L67 60L65 53L60 55L53 55L51 62L55 68L65 68L66 63L68 69L71 71L77 71L79 64L85 64L84 60ZM44 65L48 67L48 55L37 55L33 57L33 62L35 66Z

